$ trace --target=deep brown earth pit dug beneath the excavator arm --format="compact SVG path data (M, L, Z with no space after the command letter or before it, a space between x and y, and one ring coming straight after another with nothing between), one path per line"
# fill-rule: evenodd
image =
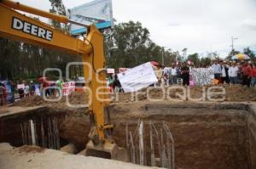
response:
M120 147L126 147L126 124L129 131L134 131L138 119L141 119L146 127L144 139L148 145L150 141L146 125L151 122L158 126L166 121L174 138L176 168L253 169L256 168L255 108L253 104L140 102L113 104L109 110L115 125L113 138ZM83 150L90 132L89 117L84 112L39 107L22 113L2 114L0 142L19 147L23 144L20 122L56 118L61 146L72 143L78 151ZM149 150L147 146L146 151ZM150 165L148 155L146 160Z

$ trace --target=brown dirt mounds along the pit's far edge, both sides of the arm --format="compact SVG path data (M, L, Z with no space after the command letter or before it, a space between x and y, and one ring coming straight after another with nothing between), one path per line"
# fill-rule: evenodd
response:
M180 99L186 100L186 98L181 99L185 93L189 94L191 99L200 99L203 96L203 92L207 94L210 86L207 87L189 87L189 88L143 88L137 93L113 93L111 95L112 103L130 103L134 101L150 101L150 99L160 99L160 100L170 100L170 99ZM223 87L225 93L217 94L213 96L213 99L222 99L222 101L256 101L256 90L253 88L242 87L241 85L236 86L218 86ZM212 89L215 92L221 92L220 89ZM179 96L178 96L179 95ZM48 100L44 100L42 97L33 96L24 99L20 99L15 102L13 106L37 106L45 105L49 107L66 107L69 104L87 104L88 103L88 93L73 92L68 97L63 96L60 100L52 101L56 99L55 97L49 97ZM206 95L206 100L207 95Z

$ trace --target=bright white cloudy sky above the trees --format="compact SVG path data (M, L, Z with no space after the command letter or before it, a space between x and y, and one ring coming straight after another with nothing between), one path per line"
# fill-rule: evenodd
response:
M49 0L15 0L49 10ZM73 8L91 0L62 0ZM221 58L231 50L251 48L256 52L256 0L113 0L117 22L139 21L150 38L164 48L201 57L218 52Z

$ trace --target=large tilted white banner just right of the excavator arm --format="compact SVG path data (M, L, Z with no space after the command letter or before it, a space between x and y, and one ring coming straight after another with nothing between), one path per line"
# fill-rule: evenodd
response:
M118 77L125 93L136 92L143 87L148 87L157 82L157 78L150 62L119 73Z

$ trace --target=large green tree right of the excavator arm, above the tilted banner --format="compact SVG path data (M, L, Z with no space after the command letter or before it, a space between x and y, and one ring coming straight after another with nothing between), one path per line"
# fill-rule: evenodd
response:
M114 25L104 37L108 67L133 67L161 59L161 48L150 40L148 29L139 22Z

